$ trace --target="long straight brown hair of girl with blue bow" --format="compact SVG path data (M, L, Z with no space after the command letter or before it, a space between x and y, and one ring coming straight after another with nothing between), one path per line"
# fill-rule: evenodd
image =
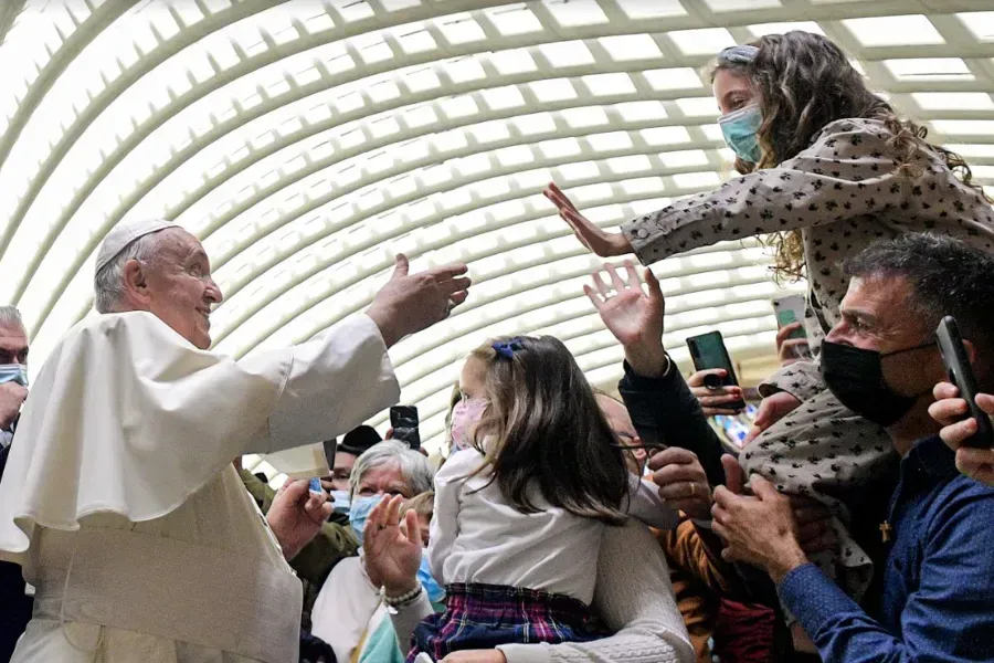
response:
M500 352L495 344L503 344ZM489 467L491 481L520 513L541 511L529 497L535 486L549 504L571 514L624 523L628 477L617 438L562 341L497 338L470 358L485 362L489 398L470 433L486 456L476 474Z

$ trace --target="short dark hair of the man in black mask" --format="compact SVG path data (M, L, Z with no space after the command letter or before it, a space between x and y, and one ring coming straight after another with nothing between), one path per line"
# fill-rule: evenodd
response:
M977 349L977 361L994 365L994 255L954 238L907 233L878 240L843 262L850 277L902 276L911 283L910 311L934 330L943 316L956 318L960 334Z

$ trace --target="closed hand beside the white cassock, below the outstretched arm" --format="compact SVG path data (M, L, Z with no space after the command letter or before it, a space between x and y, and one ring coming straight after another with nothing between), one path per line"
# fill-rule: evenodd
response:
M317 536L334 506L328 502L327 493L310 491L307 480L287 481L276 491L266 513L266 523L287 560L296 557Z

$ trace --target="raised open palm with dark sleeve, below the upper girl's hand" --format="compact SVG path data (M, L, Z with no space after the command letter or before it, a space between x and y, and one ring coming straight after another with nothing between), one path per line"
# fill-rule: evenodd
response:
M651 270L645 270L648 293L642 290L642 278L632 261L625 261L625 278L614 265L605 264L604 271L611 285L600 272L593 274L594 287L583 286L594 308L607 329L625 349L625 359L632 369L647 378L660 377L669 366L663 348L663 315L666 303L659 282ZM612 295L611 290L615 293Z

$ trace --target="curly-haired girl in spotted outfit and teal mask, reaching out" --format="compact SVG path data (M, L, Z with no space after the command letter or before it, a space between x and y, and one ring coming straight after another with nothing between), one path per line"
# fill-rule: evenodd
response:
M828 39L794 31L726 49L711 82L723 114L719 126L741 177L633 219L621 233L598 228L551 185L547 197L584 245L599 255L635 253L649 264L770 234L778 275L807 277L805 325L816 357L839 319L847 285L840 259L878 238L926 230L994 249L994 209L971 183L963 159L927 143L926 129L874 94ZM816 361L782 368L760 392L765 398L751 435L757 441L741 461L785 492L815 497L836 513L839 552L816 560L861 596L873 560L866 541L849 535L863 527L850 523L849 497L897 462L886 432L838 402ZM765 434L757 438L760 432Z

